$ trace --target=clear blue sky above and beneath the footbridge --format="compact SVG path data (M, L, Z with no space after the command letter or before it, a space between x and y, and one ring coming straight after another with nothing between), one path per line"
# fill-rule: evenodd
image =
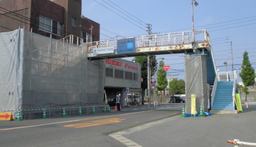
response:
M256 69L256 0L196 1L199 4L194 6L194 27L195 30L208 31L217 69L225 72L223 63L226 61L227 71L231 71L230 41L237 73L241 72L243 53L246 50ZM82 15L100 24L101 40L146 35L146 24L153 25L153 33L192 30L191 0L82 0L82 3ZM129 18L109 4L120 11L124 9L132 16L122 11ZM171 66L167 75L185 78L183 54L157 57L164 57L165 65ZM238 81L241 81L240 77Z

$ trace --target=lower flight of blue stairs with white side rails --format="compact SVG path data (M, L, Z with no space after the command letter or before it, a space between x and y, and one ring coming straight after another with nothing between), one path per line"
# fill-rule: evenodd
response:
M212 92L212 110L234 110L236 72L218 73Z

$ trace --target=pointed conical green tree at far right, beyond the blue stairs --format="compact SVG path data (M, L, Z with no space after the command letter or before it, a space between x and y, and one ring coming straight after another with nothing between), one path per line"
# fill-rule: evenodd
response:
M255 70L252 67L249 57L248 57L248 52L244 52L244 59L243 59L243 64L241 66L242 71L239 73L239 75L242 78L242 81L244 83L243 91L245 92L245 101L247 101L247 95L249 94L248 92L248 86L255 84Z

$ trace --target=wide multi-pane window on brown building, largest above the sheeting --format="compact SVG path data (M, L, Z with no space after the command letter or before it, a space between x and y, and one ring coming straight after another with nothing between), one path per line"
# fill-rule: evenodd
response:
M39 30L63 36L63 24L44 16L39 16Z

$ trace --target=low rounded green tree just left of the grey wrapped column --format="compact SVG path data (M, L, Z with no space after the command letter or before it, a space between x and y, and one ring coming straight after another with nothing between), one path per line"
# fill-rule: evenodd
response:
M180 79L174 79L169 82L169 92L173 94L184 94L185 93L185 81Z

